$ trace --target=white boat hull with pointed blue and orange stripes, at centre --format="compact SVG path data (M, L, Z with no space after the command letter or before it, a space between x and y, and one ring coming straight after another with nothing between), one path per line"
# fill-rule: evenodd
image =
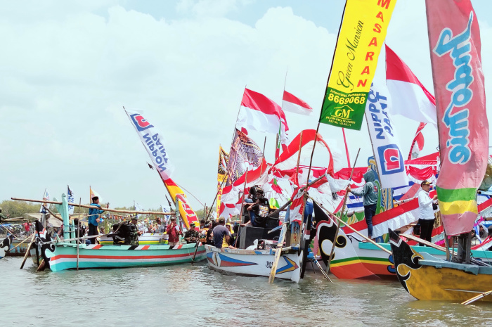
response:
M275 252L268 250L242 250L216 248L205 245L209 267L225 274L245 276L270 276ZM276 278L299 282L302 267L302 251L283 253L277 266Z

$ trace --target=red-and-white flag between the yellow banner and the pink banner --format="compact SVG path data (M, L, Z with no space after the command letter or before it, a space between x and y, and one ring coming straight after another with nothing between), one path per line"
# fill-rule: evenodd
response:
M393 101L391 113L437 124L436 99L389 46L386 46L386 84Z

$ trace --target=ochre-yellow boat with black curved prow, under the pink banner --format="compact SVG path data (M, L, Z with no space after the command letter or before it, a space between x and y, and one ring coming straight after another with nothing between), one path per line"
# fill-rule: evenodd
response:
M419 253L389 230L398 279L417 300L462 302L492 288L492 267L460 264ZM484 297L481 301L492 301Z

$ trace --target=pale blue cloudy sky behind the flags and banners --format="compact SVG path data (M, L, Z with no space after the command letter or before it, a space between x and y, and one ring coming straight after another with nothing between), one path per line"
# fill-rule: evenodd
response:
M492 3L472 4L490 98ZM1 0L0 201L41 199L45 188L60 199L70 185L82 203L89 186L110 207L167 203L125 107L143 110L160 130L192 207L210 205L219 145L231 146L245 86L281 103L285 84L314 111L286 113L290 138L316 129L343 7L342 0ZM386 42L434 93L425 1L398 0ZM394 124L408 153L418 123L394 116ZM344 158L342 129L321 124L320 133ZM435 152L436 129L424 134L422 153ZM275 135L250 136L260 147L266 136L272 162ZM357 166L366 165L365 122L347 130L347 143L352 164L361 148ZM316 154L313 162L325 165Z

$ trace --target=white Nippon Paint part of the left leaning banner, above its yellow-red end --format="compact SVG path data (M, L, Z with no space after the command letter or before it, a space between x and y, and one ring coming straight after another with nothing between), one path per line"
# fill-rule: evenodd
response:
M167 148L164 146L164 139L153 124L150 124L146 120L142 113L138 110L127 110L127 115L131 121L131 124L135 127L135 130L140 136L145 150L147 150L150 159L152 160L157 172L161 175L162 179L168 179L174 170L174 166L169 162L167 155Z

